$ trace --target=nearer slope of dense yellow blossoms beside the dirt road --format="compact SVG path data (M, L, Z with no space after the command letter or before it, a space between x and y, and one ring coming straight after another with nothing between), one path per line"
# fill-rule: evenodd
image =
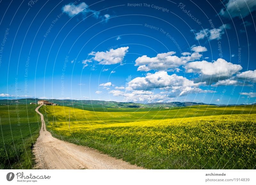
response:
M255 169L256 114L111 124L87 121L73 119L70 129L66 119L55 119L53 126L46 123L54 137L149 169Z

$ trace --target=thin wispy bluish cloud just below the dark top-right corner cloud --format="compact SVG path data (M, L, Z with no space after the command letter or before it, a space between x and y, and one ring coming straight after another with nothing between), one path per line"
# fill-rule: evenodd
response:
M225 33L226 29L229 29L230 26L228 24L222 25L219 28L212 29L203 29L196 33L196 39L204 39L208 37L209 40L221 39L221 36Z

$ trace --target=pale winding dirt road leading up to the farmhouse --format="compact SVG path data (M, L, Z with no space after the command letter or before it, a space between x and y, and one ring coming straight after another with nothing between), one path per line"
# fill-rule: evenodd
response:
M115 159L92 148L75 145L52 137L45 128L44 116L42 127L34 145L38 169L143 169L121 159Z

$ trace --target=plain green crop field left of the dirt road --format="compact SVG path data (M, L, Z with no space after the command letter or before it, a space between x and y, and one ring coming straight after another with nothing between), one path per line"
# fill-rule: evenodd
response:
M41 127L36 106L0 105L0 169L33 168L31 149Z

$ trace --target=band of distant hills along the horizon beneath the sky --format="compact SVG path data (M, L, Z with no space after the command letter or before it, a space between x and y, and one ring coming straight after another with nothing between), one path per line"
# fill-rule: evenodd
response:
M38 98L27 98L27 99L18 99L15 100L0 100L0 105L4 104L29 104L37 103ZM169 103L133 103L133 102L115 102L115 101L100 101L100 100L57 100L50 99L48 100L52 103L57 103L64 106L73 106L73 107L84 107L84 108L172 108L172 107L187 107L187 106L196 106L196 105L212 105L212 106L235 106L235 105L217 105L217 104L206 104L206 103L195 103L195 102L169 102ZM244 104L240 104L244 105ZM253 103L251 105L256 105Z

